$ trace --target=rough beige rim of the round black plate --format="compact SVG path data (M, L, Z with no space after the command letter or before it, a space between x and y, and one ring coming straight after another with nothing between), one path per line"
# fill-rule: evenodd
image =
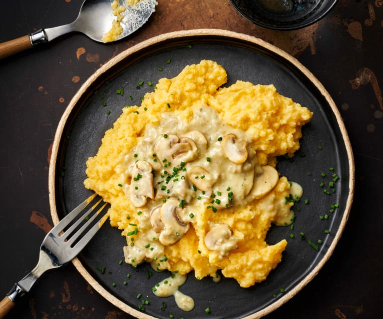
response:
M351 205L353 202L354 197L354 186L355 186L355 164L354 164L354 156L353 151L351 148L351 143L346 131L346 127L344 125L344 122L342 120L341 114L333 101L332 97L328 93L328 91L325 89L325 87L320 83L320 81L303 65L301 64L296 58L288 54L287 52L281 50L280 48L253 36L237 33L233 31L228 30L221 30L221 29L195 29L195 30L185 30L185 31L175 31L175 32L169 32L165 34L161 34L158 36L155 36L153 38L149 38L143 42L140 42L125 51L121 52L114 58L110 59L107 63L102 65L98 70L96 70L80 87L80 89L77 91L77 93L73 96L71 101L69 102L67 108L65 109L60 122L58 123L57 130L55 133L53 145L52 145L52 155L50 159L49 164L49 175L48 175L48 189L49 189L49 205L50 205L50 211L51 216L54 225L56 225L59 222L59 218L56 211L56 201L55 201L55 166L56 166L56 159L58 154L58 147L61 140L61 136L63 133L63 129L65 126L65 123L68 119L69 114L73 110L74 106L80 99L80 97L88 90L90 85L102 74L104 74L109 68L111 68L116 63L120 62L121 60L128 57L130 54L134 52L138 52L143 48L149 47L152 44L156 44L161 41L165 40L171 40L171 39L177 39L181 37L195 37L195 36L207 36L207 35L216 35L216 36L222 36L222 37L229 37L239 40L244 40L249 43L253 43L259 46L262 46L273 53L283 57L285 60L291 62L296 67L298 67L310 81L320 90L326 101L329 103L333 113L336 116L339 128L342 133L343 140L345 142L345 147L348 153L349 158L349 167L350 167L350 181L349 181L349 196L347 200L347 205L344 211L344 215L342 218L342 221L339 225L339 229L334 237L334 240L332 244L330 245L328 251L323 256L322 260L318 263L318 265L290 292L285 294L280 299L276 300L273 304L267 306L266 308L249 315L245 317L245 319L258 319L261 318L272 311L276 310L283 304L285 304L288 300L290 300L292 297L294 297L299 291L302 290L303 287L305 287L320 271L320 269L325 265L325 263L328 261L330 256L333 254L334 249L340 240L343 230L346 226L347 220L349 218ZM110 303L112 303L114 306L118 307L119 309L123 310L124 312L135 316L138 319L152 319L155 317L149 316L145 313L139 312L130 306L123 303L121 300L117 299L113 295L111 295L108 291L106 291L85 269L85 267L81 264L81 262L78 260L78 258L73 259L72 261L74 267L78 270L78 272L82 275L82 277L90 284L90 286L97 291L101 296L103 296L106 300L108 300Z

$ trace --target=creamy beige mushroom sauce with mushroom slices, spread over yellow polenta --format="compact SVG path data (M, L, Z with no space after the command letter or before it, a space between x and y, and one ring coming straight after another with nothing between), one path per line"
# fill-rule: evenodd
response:
M243 206L268 194L279 180L275 168L258 164L246 133L225 124L215 109L194 109L188 123L180 114L169 112L159 125L147 124L137 145L116 168L126 196L140 211L140 236L134 245L124 247L128 264L148 261L154 269L166 269L166 258L159 261L158 256L164 256L164 246L186 234L190 214L198 212L199 205L212 203L213 210ZM236 155L236 163L232 161L235 148L223 145L228 135L236 139L231 143L246 146L242 155ZM292 187L294 194L298 190ZM284 199L277 210L276 224L291 224L293 212ZM205 245L224 258L237 248L237 238L229 226L211 225Z

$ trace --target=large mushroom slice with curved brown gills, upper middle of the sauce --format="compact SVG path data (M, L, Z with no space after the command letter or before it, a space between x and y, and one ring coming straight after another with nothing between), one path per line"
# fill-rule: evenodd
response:
M180 140L174 134L162 136L157 141L155 150L163 165L171 163L173 166L179 166L181 162L190 162L198 156L197 145L192 139L185 137Z

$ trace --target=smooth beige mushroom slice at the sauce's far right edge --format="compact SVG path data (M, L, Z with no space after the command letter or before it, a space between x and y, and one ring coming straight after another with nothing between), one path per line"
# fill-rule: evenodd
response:
M254 177L254 185L249 196L253 199L259 199L268 194L278 183L278 171L269 165L262 166L262 173Z

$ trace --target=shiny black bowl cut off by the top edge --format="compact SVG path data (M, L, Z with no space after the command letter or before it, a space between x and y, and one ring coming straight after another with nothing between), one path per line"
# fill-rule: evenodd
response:
M230 0L251 22L276 30L293 30L323 18L337 0Z

